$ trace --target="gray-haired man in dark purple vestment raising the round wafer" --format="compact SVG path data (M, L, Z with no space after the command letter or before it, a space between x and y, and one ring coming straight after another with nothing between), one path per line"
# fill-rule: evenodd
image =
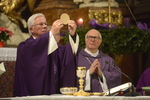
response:
M18 45L14 96L57 94L60 87L76 85L72 77L76 77L77 25L69 20L70 42L61 46L57 43L57 36L63 26L58 19L48 31L46 18L41 13L28 19L31 37Z

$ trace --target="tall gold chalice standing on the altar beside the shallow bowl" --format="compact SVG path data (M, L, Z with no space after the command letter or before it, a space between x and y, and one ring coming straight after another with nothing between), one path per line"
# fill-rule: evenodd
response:
M75 92L73 95L74 96L89 96L90 93L85 92L83 90L83 84L84 84L84 77L86 75L86 67L77 67L77 76L80 78L79 79L79 91Z

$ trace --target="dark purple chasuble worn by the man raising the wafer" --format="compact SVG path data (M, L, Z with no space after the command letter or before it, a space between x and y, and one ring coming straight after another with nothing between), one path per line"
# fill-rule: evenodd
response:
M75 78L68 79L75 77L76 69L70 44L59 45L48 55L48 42L49 33L45 33L37 39L31 36L18 45L14 96L56 94L63 85L75 85ZM68 69L72 72L69 76Z

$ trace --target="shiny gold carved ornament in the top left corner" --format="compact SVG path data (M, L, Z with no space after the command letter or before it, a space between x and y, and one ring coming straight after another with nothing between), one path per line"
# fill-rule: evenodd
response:
M33 11L36 0L26 0L27 5L22 7L25 0L1 0L0 11L7 15L7 17L17 25L26 28L26 22L21 18L20 13L27 7Z

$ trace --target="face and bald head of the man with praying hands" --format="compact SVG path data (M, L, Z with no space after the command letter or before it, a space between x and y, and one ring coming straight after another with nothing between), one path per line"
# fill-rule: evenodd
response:
M95 53L98 50L101 42L102 42L102 38L99 31L95 29L91 29L90 31L87 32L85 36L85 43L86 43L86 48L89 51Z

